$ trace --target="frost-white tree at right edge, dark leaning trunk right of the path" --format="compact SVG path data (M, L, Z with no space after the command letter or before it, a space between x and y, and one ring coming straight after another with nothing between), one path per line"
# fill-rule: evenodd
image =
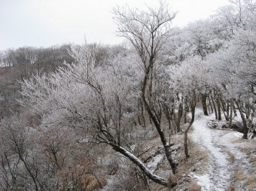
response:
M236 32L233 41L227 44L228 48L212 55L209 62L215 63L212 67L212 75L224 99L231 102L231 105L236 102L237 108L242 112L242 105L251 105L249 108L254 108L255 32L240 30ZM250 116L245 111L240 112L242 119L243 113L247 118ZM244 138L246 138L248 130L246 130L245 119L243 119L243 126Z

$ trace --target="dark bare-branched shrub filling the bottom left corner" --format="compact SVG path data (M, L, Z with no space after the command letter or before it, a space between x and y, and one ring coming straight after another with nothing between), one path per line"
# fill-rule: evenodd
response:
M50 190L53 176L50 162L41 158L32 129L18 116L0 123L0 188L16 190Z

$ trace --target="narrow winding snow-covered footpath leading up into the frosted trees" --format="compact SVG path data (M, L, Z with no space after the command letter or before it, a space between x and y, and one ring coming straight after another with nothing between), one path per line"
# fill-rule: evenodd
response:
M203 111L197 109L196 120L192 138L209 153L209 165L206 174L194 175L203 190L227 190L230 185L230 170L227 154L218 145L219 138L227 133L207 127L209 120L215 119L214 115L203 116Z

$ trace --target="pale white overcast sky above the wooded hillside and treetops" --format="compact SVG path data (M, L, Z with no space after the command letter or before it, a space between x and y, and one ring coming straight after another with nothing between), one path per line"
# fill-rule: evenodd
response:
M157 0L0 0L0 50L87 42L117 44L111 8L145 8ZM228 0L167 0L178 11L176 26L205 19Z

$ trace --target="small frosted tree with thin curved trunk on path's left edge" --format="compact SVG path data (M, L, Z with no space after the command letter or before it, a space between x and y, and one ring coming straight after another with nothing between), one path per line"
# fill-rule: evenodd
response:
M191 112L190 123L184 130L184 153L186 158L189 157L187 132L194 123L197 96L204 91L205 86L209 83L207 70L206 64L200 57L187 59L181 62L181 65L169 66L169 86L172 92L183 98L184 105L187 105Z

